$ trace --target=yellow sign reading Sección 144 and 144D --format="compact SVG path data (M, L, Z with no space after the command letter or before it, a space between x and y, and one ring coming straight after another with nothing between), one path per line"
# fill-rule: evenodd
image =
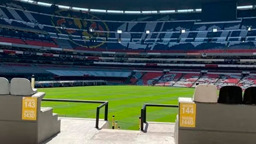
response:
M180 127L196 127L195 103L180 103Z

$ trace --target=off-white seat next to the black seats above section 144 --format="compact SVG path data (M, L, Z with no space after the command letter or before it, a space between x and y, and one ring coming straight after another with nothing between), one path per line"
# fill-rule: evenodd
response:
M196 86L193 100L196 102L217 103L217 87L212 84L199 84Z

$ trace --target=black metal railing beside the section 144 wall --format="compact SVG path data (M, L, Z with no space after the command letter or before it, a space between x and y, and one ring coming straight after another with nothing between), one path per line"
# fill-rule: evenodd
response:
M179 105L165 105L165 104L144 104L140 110L140 130L144 132L144 123L147 123L147 107L167 107L167 108L178 108Z

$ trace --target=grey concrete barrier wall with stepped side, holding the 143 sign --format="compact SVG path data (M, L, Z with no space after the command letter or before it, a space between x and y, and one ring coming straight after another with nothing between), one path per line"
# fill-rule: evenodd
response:
M37 144L60 132L60 120L52 108L41 109L44 95L38 92L30 96L37 98L35 121L22 120L22 96L0 95L0 143Z

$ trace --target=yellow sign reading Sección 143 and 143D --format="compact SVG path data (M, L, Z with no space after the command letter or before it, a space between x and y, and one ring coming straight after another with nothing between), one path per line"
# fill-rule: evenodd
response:
M22 98L22 120L36 120L37 98Z

